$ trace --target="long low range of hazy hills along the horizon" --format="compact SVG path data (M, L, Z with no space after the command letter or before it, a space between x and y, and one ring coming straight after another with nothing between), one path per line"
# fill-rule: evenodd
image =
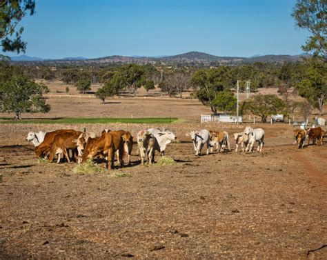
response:
M305 54L304 54L305 55ZM113 55L108 57L100 57L96 59L86 59L83 57L67 57L63 59L41 59L37 57L28 57L21 55L19 57L12 57L12 61L24 61L35 63L48 63L48 64L63 64L68 63L70 65L91 65L91 64L107 64L107 63L160 63L164 66L170 66L174 64L199 64L202 66L219 66L219 65L237 65L255 62L270 62L270 63L284 63L301 61L302 55L255 55L249 58L246 57L219 57L204 52L186 52L183 54L177 54L172 56L157 56L157 57L142 57L142 56L120 56Z

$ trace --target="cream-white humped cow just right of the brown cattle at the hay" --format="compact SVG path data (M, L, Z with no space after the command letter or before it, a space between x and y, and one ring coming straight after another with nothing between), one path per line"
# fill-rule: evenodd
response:
M166 146L177 139L175 134L170 130L149 128L141 130L137 133L137 145L139 146L139 154L141 157L141 165L144 165L144 159L148 157L148 163L152 165L155 162L155 151L164 156Z

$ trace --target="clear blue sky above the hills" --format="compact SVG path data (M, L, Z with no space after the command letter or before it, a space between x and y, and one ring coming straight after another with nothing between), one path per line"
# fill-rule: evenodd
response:
M58 59L110 55L300 54L295 0L37 0L25 17L26 54ZM10 54L15 56L15 54Z

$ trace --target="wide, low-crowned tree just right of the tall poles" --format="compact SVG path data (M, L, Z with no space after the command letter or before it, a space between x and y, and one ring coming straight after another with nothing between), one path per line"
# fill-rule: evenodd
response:
M286 104L275 94L257 94L246 102L246 110L261 117L266 123L267 117L272 114L286 114Z

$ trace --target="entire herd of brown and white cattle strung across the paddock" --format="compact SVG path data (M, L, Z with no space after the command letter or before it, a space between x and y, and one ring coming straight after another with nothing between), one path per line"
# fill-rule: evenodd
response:
M304 140L308 137L317 140L318 144L322 144L326 132L320 127L310 128L308 130L295 129L295 139L299 148L304 146ZM247 126L243 132L234 134L235 152L241 145L243 152L254 152L255 143L258 143L257 151L261 152L264 146L264 130L262 128L251 128ZM206 145L206 154L209 154L216 148L219 152L230 150L230 139L226 131L208 131L199 130L186 134L191 137L194 145L195 154L201 154L202 148ZM141 165L144 165L146 157L151 165L155 161L155 151L165 154L166 146L175 141L177 137L170 130L149 128L141 130L137 133L137 145L139 155L141 157ZM26 141L31 141L35 146L35 154L39 159L48 159L52 162L57 156L57 163L61 158L65 157L68 163L71 160L82 163L88 159L99 159L107 164L108 170L113 168L115 154L117 161L123 167L123 156L127 154L128 164L130 164L130 155L133 146L133 137L130 132L125 130L110 131L105 129L101 135L97 137L95 132L80 132L76 130L55 130L52 132L29 132Z

